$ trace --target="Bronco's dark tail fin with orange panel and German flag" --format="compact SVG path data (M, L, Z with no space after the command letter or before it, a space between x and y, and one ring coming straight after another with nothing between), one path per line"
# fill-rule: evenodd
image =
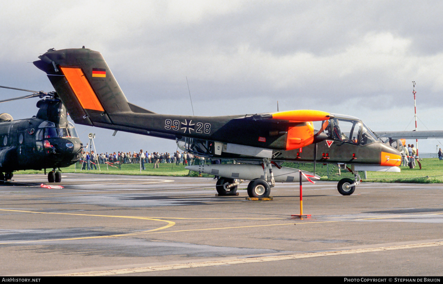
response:
M85 48L50 49L39 58L34 65L47 73L75 123L113 124L109 114L136 109L128 104L101 53Z

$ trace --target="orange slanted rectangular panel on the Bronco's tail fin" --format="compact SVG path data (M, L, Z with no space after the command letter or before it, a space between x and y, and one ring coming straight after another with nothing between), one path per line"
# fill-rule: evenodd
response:
M84 109L104 111L81 68L60 67Z

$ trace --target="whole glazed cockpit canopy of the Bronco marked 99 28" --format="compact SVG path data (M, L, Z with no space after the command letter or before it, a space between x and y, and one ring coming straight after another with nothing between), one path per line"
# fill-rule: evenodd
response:
M330 138L357 145L367 145L381 141L360 119L336 115L329 120L324 133ZM323 123L322 123L323 124Z

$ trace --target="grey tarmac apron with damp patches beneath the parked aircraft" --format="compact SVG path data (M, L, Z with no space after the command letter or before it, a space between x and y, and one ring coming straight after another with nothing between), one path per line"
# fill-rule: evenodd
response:
M43 188L40 184L61 185ZM0 186L0 274L442 276L443 184L336 182L216 197L212 178L15 175ZM239 188L245 188L242 184Z

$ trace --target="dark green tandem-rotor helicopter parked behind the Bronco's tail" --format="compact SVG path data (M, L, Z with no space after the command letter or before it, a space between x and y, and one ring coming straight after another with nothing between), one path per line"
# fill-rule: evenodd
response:
M67 112L55 92L31 91L13 87L1 88L32 92L23 98L42 98L39 111L31 118L13 120L9 114L0 114L0 181L10 180L16 170L45 170L48 182L60 182L57 168L68 167L81 157L82 142L74 125L67 120Z

